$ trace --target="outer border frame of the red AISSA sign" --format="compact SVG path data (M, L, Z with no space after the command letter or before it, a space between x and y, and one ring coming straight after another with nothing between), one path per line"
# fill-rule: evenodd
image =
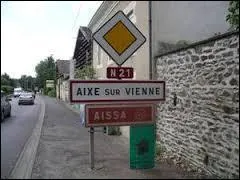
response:
M145 106L150 106L152 108L152 121L145 121L145 122L124 122L124 123L101 123L101 124L90 124L88 123L88 111L87 109L88 108L91 108L89 106L101 106L101 107L104 107L104 106L110 106L110 107L113 107L113 106L122 106L122 107L136 107L136 106L139 106L139 107L144 107ZM138 124L154 124L155 123L155 113L156 113L156 106L155 104L150 104L150 103L141 103L141 104L86 104L85 106L85 127L102 127L102 126L131 126L131 125L138 125Z

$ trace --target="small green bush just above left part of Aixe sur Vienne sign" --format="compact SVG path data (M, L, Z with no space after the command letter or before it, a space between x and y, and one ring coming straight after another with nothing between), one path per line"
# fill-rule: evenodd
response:
M96 79L96 72L90 65L85 65L82 69L75 70L75 78L77 79Z

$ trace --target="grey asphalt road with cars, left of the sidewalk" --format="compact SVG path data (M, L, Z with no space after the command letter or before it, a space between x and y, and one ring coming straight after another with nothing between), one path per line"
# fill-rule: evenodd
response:
M12 98L11 117L1 122L1 178L8 178L17 159L31 136L40 114L40 101L34 105L18 105Z

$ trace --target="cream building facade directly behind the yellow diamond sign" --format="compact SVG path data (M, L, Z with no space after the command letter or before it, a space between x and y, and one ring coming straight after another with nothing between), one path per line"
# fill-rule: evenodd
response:
M102 13L99 20L90 25L89 28L94 33L115 13L122 10L128 14L133 10L133 15L129 19L137 26L137 28L146 37L146 42L142 47L131 56L123 66L134 68L134 79L149 79L149 36L148 36L148 2L147 1L105 1L103 6L108 6L105 13ZM103 9L106 9L102 7ZM96 69L98 79L106 78L106 69L108 66L117 66L103 49L94 41L93 42L93 66ZM100 57L100 65L98 58ZM129 126L121 126L121 132L124 136L129 137Z

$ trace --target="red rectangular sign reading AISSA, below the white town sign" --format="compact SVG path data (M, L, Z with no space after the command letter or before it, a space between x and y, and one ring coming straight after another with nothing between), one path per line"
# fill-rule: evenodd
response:
M154 123L153 104L88 104L85 106L86 127Z

